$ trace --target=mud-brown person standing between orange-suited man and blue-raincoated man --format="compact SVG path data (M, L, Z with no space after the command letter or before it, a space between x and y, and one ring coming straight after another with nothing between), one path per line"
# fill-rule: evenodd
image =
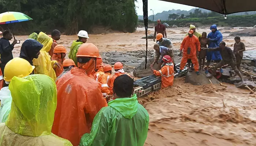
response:
M200 39L201 48L207 48L209 41L206 36L207 36L206 32L203 32L202 37ZM206 50L200 50L198 55L199 70L201 69L204 70L205 57L206 57Z

